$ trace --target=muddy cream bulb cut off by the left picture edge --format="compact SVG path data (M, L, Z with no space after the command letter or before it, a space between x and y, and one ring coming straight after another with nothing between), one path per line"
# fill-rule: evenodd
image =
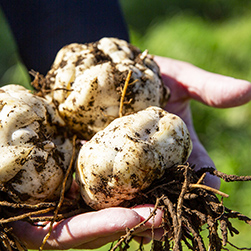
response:
M45 99L18 85L0 88L0 184L14 201L59 197L72 151L70 140L58 135L63 125Z

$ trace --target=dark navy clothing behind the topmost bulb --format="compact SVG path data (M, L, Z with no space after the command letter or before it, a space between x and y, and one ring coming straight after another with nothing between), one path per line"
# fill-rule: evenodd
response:
M24 64L42 74L64 45L105 36L129 39L116 0L0 0L0 4Z

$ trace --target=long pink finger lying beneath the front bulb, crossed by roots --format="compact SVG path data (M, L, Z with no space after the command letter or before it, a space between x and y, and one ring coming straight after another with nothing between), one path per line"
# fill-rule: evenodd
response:
M127 228L134 227L140 221L140 215L126 208L110 208L80 214L54 224L45 248L69 249L93 240L97 240L97 246L103 245L103 242L98 242L99 237L125 232ZM26 243L27 247L32 249L37 249L41 245L49 230L49 224L42 228L19 222L19 224L15 223L13 227L17 236ZM109 241L111 240L107 239L107 242Z

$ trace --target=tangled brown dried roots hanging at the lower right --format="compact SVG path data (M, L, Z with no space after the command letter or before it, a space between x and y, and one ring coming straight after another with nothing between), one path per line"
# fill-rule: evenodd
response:
M204 251L208 248L218 251L228 250L228 245L240 250L228 240L229 234L234 236L239 233L230 220L237 218L251 225L251 219L226 208L223 200L219 200L216 196L219 194L227 197L226 194L201 184L206 172L225 181L251 180L250 176L227 175L213 168L203 168L199 172L195 172L189 165L180 165L169 169L164 178L156 181L151 188L144 191L144 194L142 193L130 205L127 205L133 206L133 203L141 204L146 201L147 203L155 202L155 210L150 217L154 217L157 208L164 211L162 227L165 232L160 241L153 241L152 251L181 251L184 246L196 251ZM202 226L205 224L208 229L208 247L201 235ZM127 250L133 232L140 226L141 224L128 230L127 234L122 236L111 250L115 251L117 248ZM139 247L139 250L143 249ZM241 250L250 249L241 248Z

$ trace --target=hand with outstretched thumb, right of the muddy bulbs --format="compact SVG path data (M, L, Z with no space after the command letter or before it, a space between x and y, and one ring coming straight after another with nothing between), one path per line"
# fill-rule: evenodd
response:
M171 91L166 110L180 116L190 131L193 151L189 163L195 164L197 169L215 167L194 130L189 100L195 99L217 108L240 106L251 100L251 84L210 73L182 61L159 56L154 59L160 67L164 84ZM220 180L215 176L207 175L205 182L211 187L220 187Z

